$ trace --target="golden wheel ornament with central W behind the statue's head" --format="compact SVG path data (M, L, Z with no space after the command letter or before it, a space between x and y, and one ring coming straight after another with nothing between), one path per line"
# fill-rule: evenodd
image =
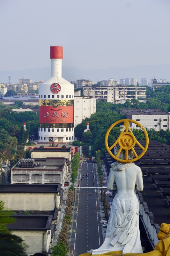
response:
M144 132L145 135L145 147L143 147L135 138L131 128L130 128L130 123L134 123L137 124L142 131ZM119 137L117 138L117 140L113 143L113 145L111 147L108 146L108 136L110 131L115 127L115 125L123 123L123 125L121 125L122 127L122 131L119 135ZM115 145L118 144L119 145L119 150L116 154L116 156L111 152L112 148L115 147ZM143 151L142 153L138 156L136 151L135 151L135 144L137 144ZM106 146L106 150L109 153L110 156L112 156L115 160L122 162L122 163L130 163L130 162L134 162L138 159L140 159L146 152L147 148L148 148L148 144L149 144L149 138L148 138L148 134L146 132L146 129L144 128L144 126L142 126L142 124L140 124L139 122L135 121L135 120L131 120L131 119L122 119L119 120L117 122L115 122L114 124L112 124L109 129L106 132L106 136L105 136L105 146ZM118 156L120 155L122 149L125 150L125 159L120 159L118 158ZM133 159L128 159L128 150L132 150L132 152L134 153L135 158Z

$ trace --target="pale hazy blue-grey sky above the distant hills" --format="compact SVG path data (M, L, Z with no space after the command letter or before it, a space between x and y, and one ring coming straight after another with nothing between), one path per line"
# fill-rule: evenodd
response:
M0 0L0 71L169 64L169 0Z

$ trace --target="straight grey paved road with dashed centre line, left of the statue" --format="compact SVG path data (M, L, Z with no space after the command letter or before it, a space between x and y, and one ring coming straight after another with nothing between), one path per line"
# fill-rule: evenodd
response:
M73 233L70 248L70 252L73 256L78 256L90 249L97 249L103 243L98 198L99 189L95 188L97 187L97 173L95 167L95 164L86 162L83 163L83 166L80 166L80 188L76 189Z

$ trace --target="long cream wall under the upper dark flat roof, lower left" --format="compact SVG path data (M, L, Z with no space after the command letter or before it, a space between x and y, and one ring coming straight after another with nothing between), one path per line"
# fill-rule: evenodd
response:
M14 211L54 211L59 208L60 193L0 193L4 207Z

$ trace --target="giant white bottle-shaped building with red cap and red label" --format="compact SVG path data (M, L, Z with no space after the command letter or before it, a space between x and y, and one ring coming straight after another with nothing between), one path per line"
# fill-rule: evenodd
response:
M63 47L50 46L51 78L39 85L39 141L74 141L74 84L62 78Z

